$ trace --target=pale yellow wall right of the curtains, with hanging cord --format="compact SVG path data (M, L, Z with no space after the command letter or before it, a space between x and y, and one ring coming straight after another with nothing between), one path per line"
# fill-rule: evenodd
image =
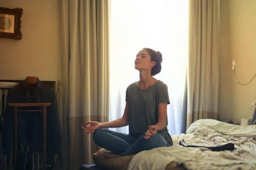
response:
M220 1L220 118L252 118L256 101L256 78L249 85L236 82L232 61L236 61L236 75L247 83L256 71L256 1Z

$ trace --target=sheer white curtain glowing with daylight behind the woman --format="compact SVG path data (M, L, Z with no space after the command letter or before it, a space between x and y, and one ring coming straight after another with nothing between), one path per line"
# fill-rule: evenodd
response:
M188 0L111 0L109 121L122 117L127 86L139 80L137 53L149 47L163 55L155 76L169 88L170 134L180 134L188 58ZM110 128L129 133L128 127Z

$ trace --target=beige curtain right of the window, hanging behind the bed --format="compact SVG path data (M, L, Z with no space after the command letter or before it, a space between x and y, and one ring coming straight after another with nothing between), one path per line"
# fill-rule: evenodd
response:
M187 128L218 119L219 0L189 0Z

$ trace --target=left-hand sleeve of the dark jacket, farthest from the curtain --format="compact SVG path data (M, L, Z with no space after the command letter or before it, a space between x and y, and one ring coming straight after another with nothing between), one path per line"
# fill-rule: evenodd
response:
M4 155L11 155L12 136L13 136L13 107L9 106L11 102L11 94L7 94L6 106L4 112L4 126L3 126L3 148Z

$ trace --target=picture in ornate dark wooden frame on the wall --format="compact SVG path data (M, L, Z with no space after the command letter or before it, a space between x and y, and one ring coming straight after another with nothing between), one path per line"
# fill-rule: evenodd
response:
M21 39L21 8L0 7L0 38Z

